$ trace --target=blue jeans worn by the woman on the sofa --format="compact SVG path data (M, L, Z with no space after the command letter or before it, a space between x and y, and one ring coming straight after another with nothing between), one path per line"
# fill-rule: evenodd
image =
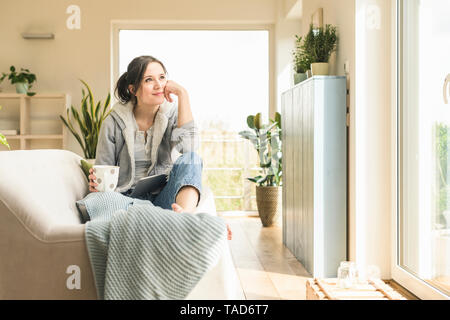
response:
M147 194L140 199L150 200L153 205L163 209L172 210L172 203L182 187L192 186L197 189L200 197L202 194L202 158L195 152L183 153L173 164L169 173L169 180L158 194ZM131 190L124 195L129 196ZM199 201L200 201L199 197Z

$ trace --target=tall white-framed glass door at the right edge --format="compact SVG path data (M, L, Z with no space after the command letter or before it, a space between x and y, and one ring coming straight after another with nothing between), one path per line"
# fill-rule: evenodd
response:
M450 295L450 2L399 4L397 264Z

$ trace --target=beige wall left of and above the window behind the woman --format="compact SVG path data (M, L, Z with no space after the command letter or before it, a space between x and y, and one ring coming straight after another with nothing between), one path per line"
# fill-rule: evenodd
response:
M81 30L66 28L66 8L71 4L81 8ZM277 6L276 0L2 1L0 71L6 72L10 65L27 67L38 77L33 89L69 93L76 107L81 78L97 100L104 100L110 89L111 20L273 26ZM55 39L24 40L21 33L27 31L53 32ZM7 81L2 87L4 92L14 91ZM72 136L68 149L81 154Z

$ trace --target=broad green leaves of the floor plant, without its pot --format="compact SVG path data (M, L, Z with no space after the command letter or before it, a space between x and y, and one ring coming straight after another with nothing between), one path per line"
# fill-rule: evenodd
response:
M275 119L269 119L269 124L261 123L261 113L247 117L250 130L241 131L239 135L250 140L259 155L260 175L248 180L259 186L280 186L282 177L281 152L281 115L277 112Z

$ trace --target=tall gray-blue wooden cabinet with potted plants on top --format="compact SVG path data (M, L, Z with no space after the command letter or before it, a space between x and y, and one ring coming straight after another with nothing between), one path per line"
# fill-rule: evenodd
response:
M314 76L282 94L283 243L313 277L347 260L346 78Z

